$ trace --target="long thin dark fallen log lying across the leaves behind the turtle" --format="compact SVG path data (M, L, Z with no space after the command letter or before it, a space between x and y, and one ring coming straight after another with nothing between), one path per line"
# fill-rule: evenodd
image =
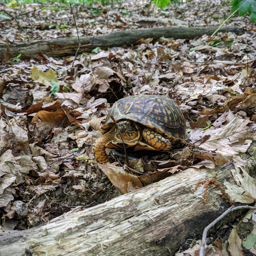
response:
M176 27L159 27L151 29L138 29L117 31L108 35L86 36L81 37L82 45L90 44L81 47L78 53L91 52L97 46L102 49L107 49L114 46L133 45L141 38L158 39L162 36L167 38L196 38L202 35L211 35L218 27L201 27L201 28L176 28ZM223 27L219 32L233 32L236 34L243 33L242 28L238 27ZM0 44L0 58L15 57L22 54L22 57L34 57L37 54L46 54L47 56L57 57L63 55L74 55L78 48L77 38L56 38L44 41L34 41L31 43L11 44L10 49L7 49L6 44ZM10 50L10 51L9 51Z

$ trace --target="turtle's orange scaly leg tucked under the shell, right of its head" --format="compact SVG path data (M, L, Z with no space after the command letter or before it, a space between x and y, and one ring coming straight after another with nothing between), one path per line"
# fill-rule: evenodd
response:
M161 134L149 128L143 130L142 136L150 146L158 150L168 151L172 148L172 143L169 139L164 138Z

